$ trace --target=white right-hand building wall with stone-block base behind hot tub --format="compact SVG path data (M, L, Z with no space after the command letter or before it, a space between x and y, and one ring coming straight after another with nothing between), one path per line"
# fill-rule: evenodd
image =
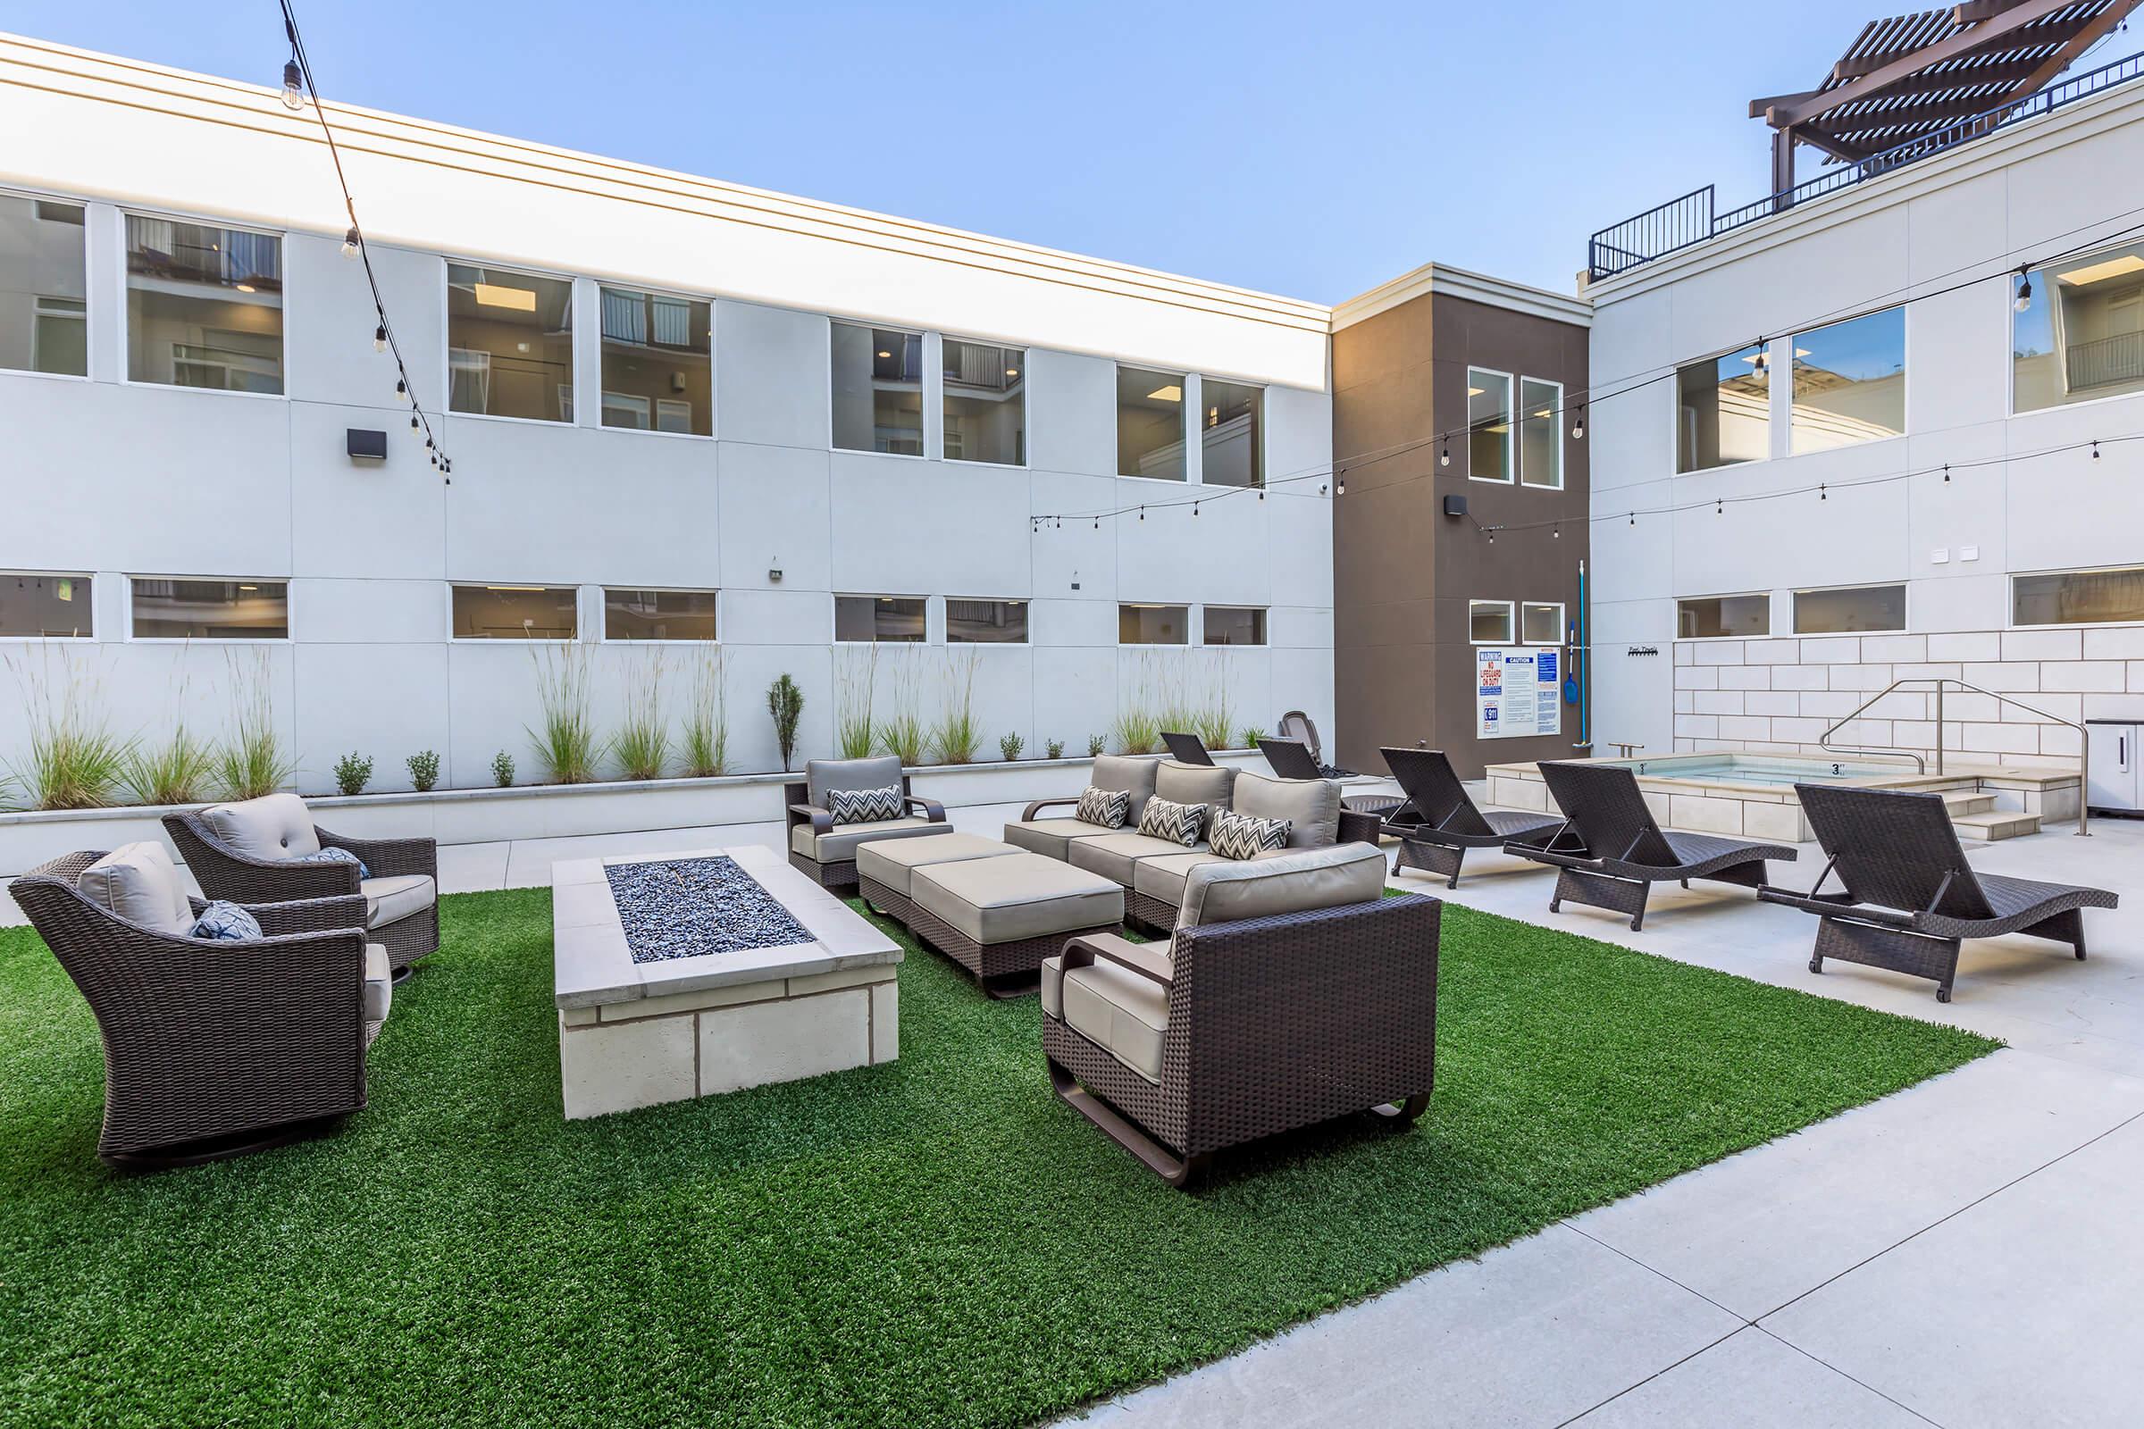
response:
M2140 176L2127 84L1589 285L1599 741L1816 752L1932 675L2144 716ZM2078 756L1979 694L1942 724ZM1833 743L1934 750L1934 698Z

